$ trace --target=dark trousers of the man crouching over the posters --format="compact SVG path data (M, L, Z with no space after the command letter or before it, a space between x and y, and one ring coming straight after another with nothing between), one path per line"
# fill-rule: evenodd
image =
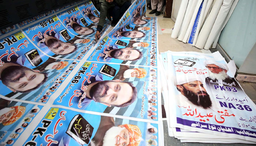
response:
M131 3L126 1L121 7L115 1L113 3L115 6L109 9L109 15L112 16L112 23L116 24L130 7Z

